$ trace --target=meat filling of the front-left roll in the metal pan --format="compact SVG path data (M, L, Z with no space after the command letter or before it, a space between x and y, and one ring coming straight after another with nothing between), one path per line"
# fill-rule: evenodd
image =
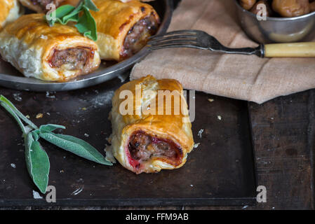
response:
M90 50L87 48L68 48L67 50L55 50L51 57L51 67L60 68L66 66L68 70L83 69L88 60Z

